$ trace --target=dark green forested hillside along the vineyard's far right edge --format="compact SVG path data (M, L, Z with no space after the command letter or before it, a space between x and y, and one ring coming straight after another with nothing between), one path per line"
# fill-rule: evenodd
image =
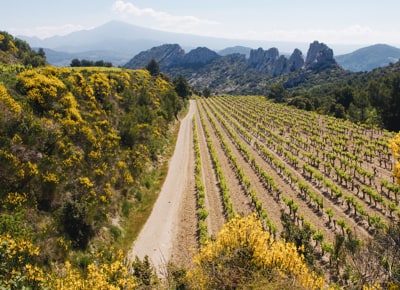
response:
M283 88L270 97L300 109L400 130L400 62L371 72L343 75L318 86L290 88L285 82L280 84Z

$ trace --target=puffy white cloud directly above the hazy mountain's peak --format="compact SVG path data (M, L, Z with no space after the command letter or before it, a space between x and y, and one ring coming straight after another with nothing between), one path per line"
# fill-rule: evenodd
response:
M112 10L135 24L174 32L201 33L218 24L216 21L200 19L195 16L172 15L152 8L139 8L131 2L115 1Z

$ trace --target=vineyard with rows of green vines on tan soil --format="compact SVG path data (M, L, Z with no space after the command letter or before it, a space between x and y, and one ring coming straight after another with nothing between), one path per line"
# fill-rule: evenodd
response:
M366 240L400 220L394 134L266 101L198 99L193 120L198 241L256 213L271 236L282 215L312 233L322 261L335 236ZM199 245L191 245L199 247Z

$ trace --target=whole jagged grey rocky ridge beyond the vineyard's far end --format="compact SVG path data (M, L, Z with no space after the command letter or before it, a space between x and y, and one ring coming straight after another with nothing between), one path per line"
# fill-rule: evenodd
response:
M252 49L246 58L240 53L221 56L206 47L185 53L178 44L164 44L139 53L124 67L143 68L151 59L159 63L162 71L173 77L183 75L198 89L209 87L216 93L231 94L262 94L277 78L287 86L296 86L312 74L340 70L332 49L317 41L310 44L305 58L299 49L290 57L274 47ZM296 72L295 79L284 77Z

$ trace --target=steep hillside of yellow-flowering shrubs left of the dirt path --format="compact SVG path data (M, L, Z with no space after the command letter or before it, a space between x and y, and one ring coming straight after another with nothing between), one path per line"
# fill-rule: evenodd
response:
M152 169L161 164L183 100L171 83L145 70L6 68L0 78L2 245L30 243L37 250L25 263L37 271L67 261L77 267L85 259L112 263L118 255L108 249L121 243L131 209L152 186ZM20 266L5 267L33 283ZM12 279L2 267L1 280Z

